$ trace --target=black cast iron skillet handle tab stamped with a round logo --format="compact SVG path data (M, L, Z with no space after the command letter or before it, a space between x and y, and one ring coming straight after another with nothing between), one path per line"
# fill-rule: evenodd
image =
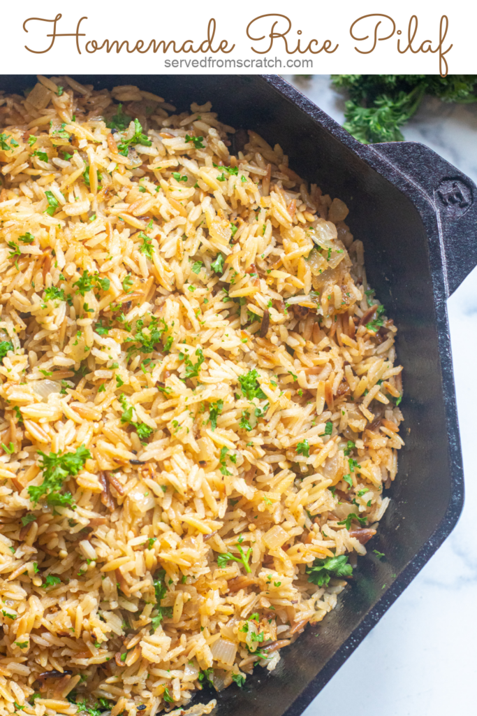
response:
M390 142L367 148L394 168L395 183L405 185L405 193L413 195L424 223L426 215L433 223L434 234L437 221L447 296L451 296L477 266L476 185L418 142Z

